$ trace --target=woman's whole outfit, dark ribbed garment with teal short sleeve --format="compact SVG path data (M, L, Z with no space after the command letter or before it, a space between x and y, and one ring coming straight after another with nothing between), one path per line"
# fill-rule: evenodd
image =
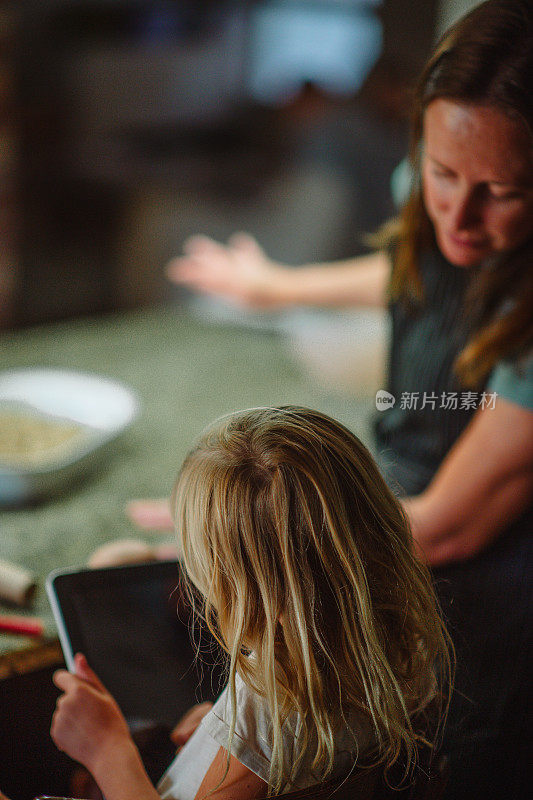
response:
M533 413L531 353L496 364L485 389L475 393L475 403L461 408L469 404L461 403L465 389L453 363L470 335L465 293L477 271L454 267L434 252L422 259L421 272L423 305L412 312L398 303L391 306L388 390L396 400L377 412L376 420L385 478L398 494L410 495L431 481L483 392ZM447 402L455 392L457 408ZM457 657L442 744L450 765L450 800L525 800L531 794L530 759L524 757L530 719L524 709L531 707L532 532L530 504L474 558L433 572Z

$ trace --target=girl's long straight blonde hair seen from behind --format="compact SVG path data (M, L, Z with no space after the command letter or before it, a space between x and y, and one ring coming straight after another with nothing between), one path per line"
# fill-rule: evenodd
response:
M237 673L270 712L270 789L304 758L326 777L353 712L377 760L414 763L419 723L449 685L448 637L406 517L357 437L305 408L236 413L186 458L173 507L200 612L229 656L231 735Z

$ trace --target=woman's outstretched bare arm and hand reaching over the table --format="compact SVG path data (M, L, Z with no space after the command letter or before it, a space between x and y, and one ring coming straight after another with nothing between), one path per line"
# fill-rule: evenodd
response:
M294 305L377 306L386 304L390 260L384 251L368 256L289 268L272 261L247 234L227 245L205 236L184 244L184 255L167 268L170 280L250 308Z

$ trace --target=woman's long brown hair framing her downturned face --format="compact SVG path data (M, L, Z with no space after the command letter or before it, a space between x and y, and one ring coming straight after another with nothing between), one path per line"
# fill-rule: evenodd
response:
M392 299L423 302L421 253L434 246L420 180L424 112L438 98L489 105L527 128L533 149L533 4L488 0L444 35L419 81L414 102L410 162L415 177L396 226ZM533 243L505 254L472 281L465 306L473 333L455 371L466 386L478 386L494 365L525 353L533 339Z

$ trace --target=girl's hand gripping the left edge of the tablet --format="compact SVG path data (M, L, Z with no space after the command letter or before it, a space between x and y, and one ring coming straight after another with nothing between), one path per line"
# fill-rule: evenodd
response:
M51 736L59 750L93 775L105 760L112 765L134 744L122 713L84 655L75 657L76 674L59 670L54 683L64 694L52 717Z

